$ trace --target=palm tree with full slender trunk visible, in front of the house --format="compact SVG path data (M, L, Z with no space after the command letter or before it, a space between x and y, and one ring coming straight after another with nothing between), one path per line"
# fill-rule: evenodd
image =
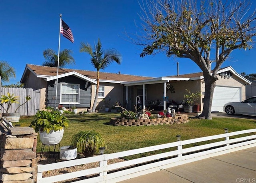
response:
M81 43L80 52L86 52L92 56L91 64L97 70L97 87L96 87L96 96L94 103L92 105L92 111L94 112L96 109L97 101L98 101L98 92L100 86L100 69L105 69L112 62L116 62L117 64L121 64L122 56L121 54L113 49L102 50L102 45L100 39L98 39L97 45L95 45L95 50L92 50L92 46L88 43Z

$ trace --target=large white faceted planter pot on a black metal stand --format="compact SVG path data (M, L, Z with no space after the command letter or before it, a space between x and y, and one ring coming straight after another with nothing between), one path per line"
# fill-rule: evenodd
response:
M39 133L40 140L44 145L55 145L60 143L64 133L64 128L62 130L54 131L50 130L50 133L46 133L45 131Z

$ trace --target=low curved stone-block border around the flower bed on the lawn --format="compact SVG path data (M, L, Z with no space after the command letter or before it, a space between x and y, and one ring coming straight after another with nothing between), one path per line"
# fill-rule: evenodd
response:
M162 117L154 119L110 119L110 124L115 126L151 126L151 125L163 125L163 124L180 124L187 123L187 114L178 114L175 117Z

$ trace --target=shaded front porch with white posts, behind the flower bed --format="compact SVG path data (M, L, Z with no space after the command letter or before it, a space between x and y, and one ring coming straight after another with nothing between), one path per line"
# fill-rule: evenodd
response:
M154 111L163 111L168 107L176 112L184 112L181 104L185 104L184 94L186 89L195 93L201 91L200 80L185 80L187 78L155 78L154 82L143 80L140 82L122 83L126 90L124 98L127 102L127 109L134 111L135 108ZM172 79L172 80L171 80ZM175 80L174 80L175 79ZM181 79L181 80L177 80ZM204 96L198 99L199 108L194 110L200 112Z

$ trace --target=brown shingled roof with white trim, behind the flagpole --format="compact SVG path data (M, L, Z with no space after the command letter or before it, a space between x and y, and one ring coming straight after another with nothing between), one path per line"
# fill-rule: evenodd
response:
M26 76L28 75L29 71L32 72L37 78L50 78L57 75L57 68L26 64L26 68L23 72L20 83L25 82ZM58 76L61 76L62 74L64 74L62 76L65 76L65 74L70 72L75 72L77 74L83 75L92 80L97 79L96 71L76 70L76 69L66 69L66 68L59 68ZM138 80L146 80L146 79L152 79L152 77L100 72L100 82L121 83L121 82L138 81Z

